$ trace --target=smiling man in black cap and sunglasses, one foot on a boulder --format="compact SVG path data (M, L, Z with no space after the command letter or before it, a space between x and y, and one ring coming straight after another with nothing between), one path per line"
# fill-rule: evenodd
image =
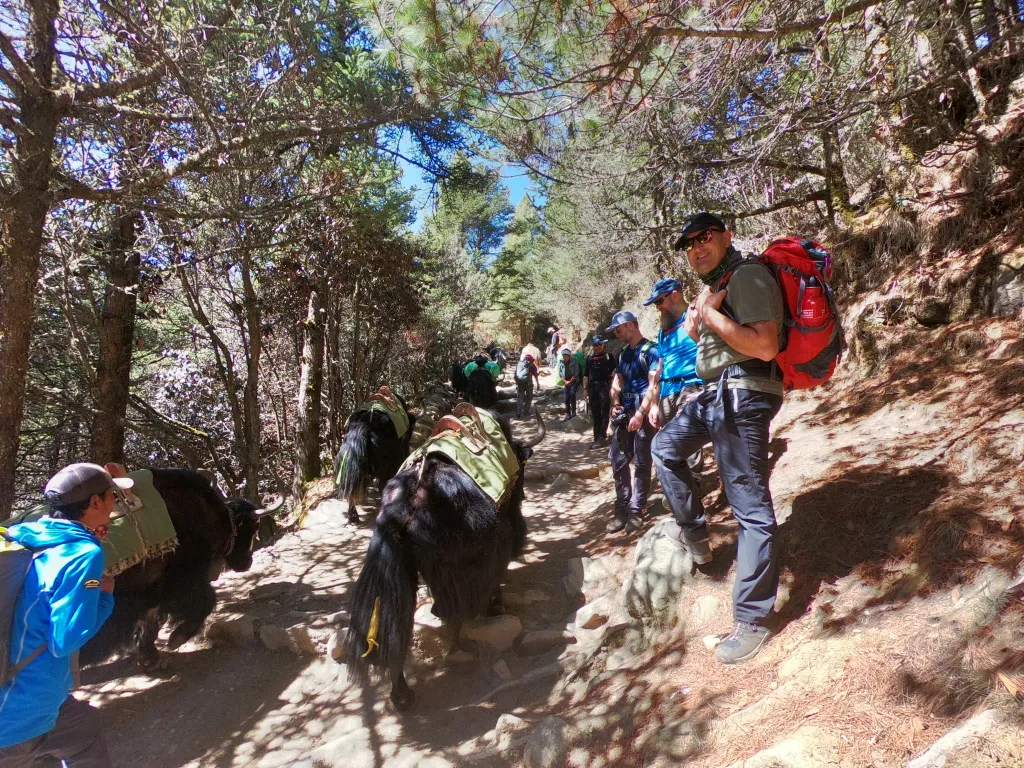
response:
M782 407L773 362L782 343L782 294L774 275L732 247L718 216L701 212L676 243L705 284L684 327L697 342L696 375L705 391L685 402L658 432L654 467L693 560L708 563L708 521L686 458L710 438L725 495L739 523L732 633L715 650L723 664L752 658L770 637L778 589L775 509L768 487L769 425Z

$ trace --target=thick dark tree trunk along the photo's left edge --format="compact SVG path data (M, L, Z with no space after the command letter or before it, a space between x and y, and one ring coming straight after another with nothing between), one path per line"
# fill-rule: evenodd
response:
M14 503L25 414L39 249L50 209L53 147L60 115L53 88L57 0L28 4L28 65L36 80L15 93L25 127L15 137L13 190L0 214L0 518Z

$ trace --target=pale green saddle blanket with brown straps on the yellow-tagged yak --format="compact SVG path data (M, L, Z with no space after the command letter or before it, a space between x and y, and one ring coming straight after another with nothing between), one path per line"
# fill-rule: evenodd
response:
M458 464L496 505L510 493L519 473L519 460L505 439L499 421L468 402L434 425L433 433L402 465L415 466L430 454L443 454Z

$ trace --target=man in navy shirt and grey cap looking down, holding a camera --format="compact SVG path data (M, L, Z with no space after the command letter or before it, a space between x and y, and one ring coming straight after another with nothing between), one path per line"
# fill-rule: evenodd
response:
M656 430L646 418L652 396L648 377L660 358L657 345L640 333L633 312L615 312L607 330L625 344L611 379L614 439L608 458L615 478L615 519L608 523L607 530L614 534L625 529L632 534L640 528L650 493L650 442ZM632 483L630 464L636 465Z

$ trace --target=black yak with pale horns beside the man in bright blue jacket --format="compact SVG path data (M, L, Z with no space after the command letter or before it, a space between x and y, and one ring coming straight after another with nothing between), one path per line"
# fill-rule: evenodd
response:
M210 582L226 565L252 566L253 541L260 518L282 502L257 509L242 499L225 501L210 481L191 469L154 469L153 485L164 499L178 545L162 557L132 565L118 575L114 612L81 651L82 664L95 664L114 651L135 646L142 668L156 667L157 633L170 618L167 641L175 650L202 629L217 601Z

